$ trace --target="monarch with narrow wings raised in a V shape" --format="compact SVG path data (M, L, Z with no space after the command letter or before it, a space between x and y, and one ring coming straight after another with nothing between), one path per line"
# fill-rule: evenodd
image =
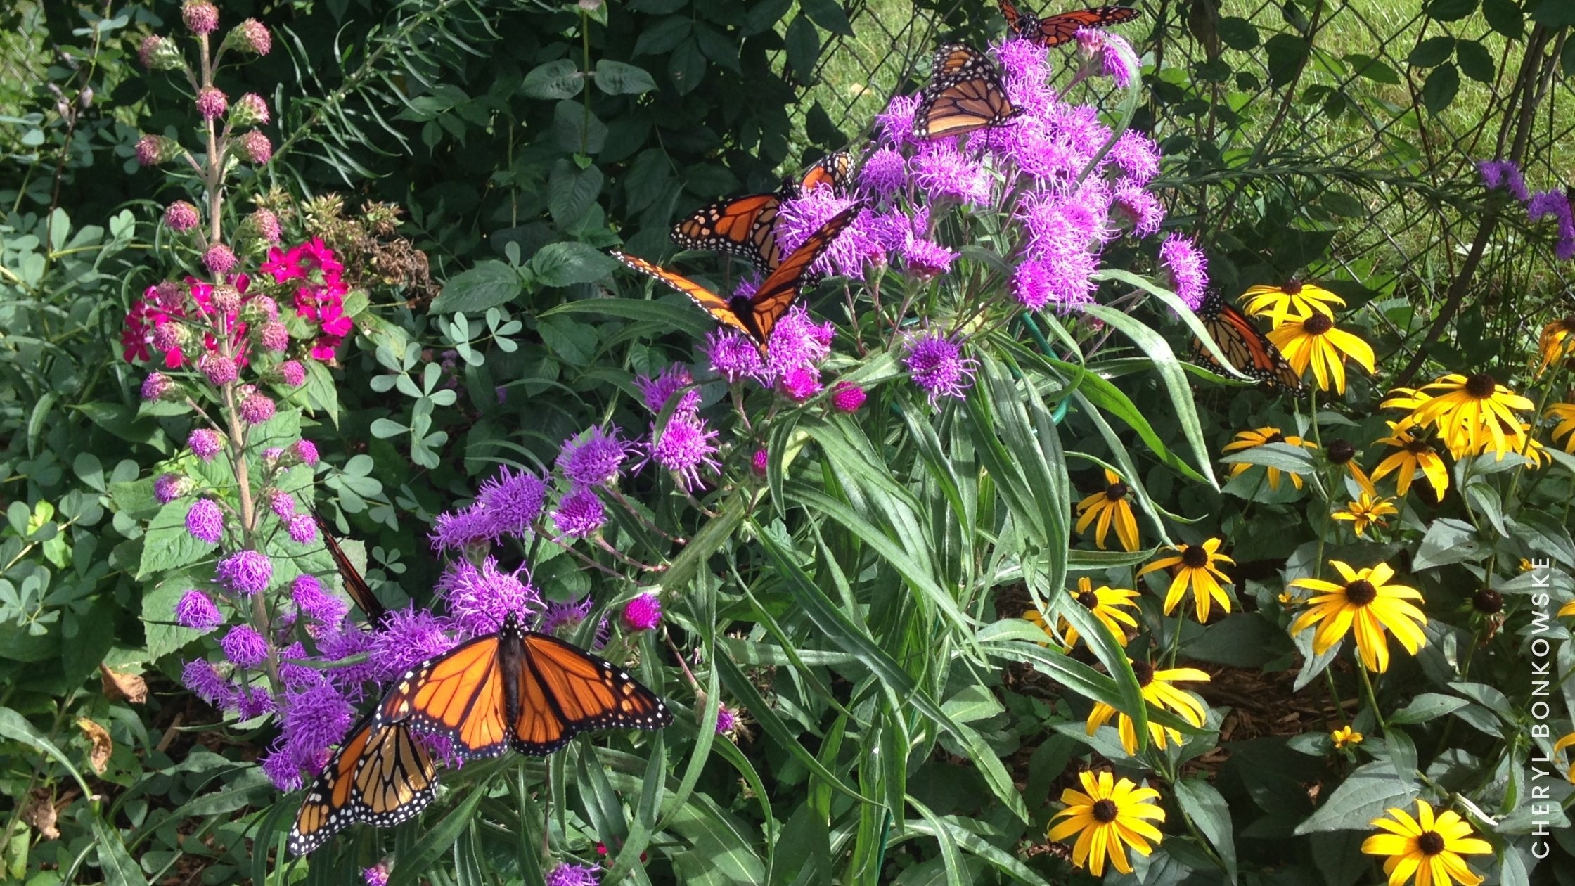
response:
M644 259L625 255L616 249L613 251L613 257L690 296L695 304L704 307L718 323L732 326L754 339L754 344L764 355L765 342L770 341L776 322L792 307L792 303L799 300L799 293L808 284L810 265L825 252L825 248L847 227L847 222L854 219L857 211L857 205L849 207L822 224L819 230L810 235L810 240L805 240L803 244L776 265L776 270L765 277L753 296L734 295L732 298L723 298L701 284L652 265Z

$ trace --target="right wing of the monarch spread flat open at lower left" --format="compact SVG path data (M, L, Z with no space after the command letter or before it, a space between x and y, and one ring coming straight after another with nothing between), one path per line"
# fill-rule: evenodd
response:
M673 722L662 698L600 656L534 631L520 643L515 750L545 755L581 732L657 730Z

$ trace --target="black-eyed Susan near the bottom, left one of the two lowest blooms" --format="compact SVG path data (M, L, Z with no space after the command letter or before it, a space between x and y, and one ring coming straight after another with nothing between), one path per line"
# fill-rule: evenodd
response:
M1079 772L1077 780L1084 790L1062 791L1066 809L1051 818L1046 837L1065 840L1077 834L1073 864L1087 867L1095 877L1104 875L1106 859L1121 873L1131 873L1126 847L1147 858L1164 840L1159 828L1150 823L1166 820L1166 810L1154 802L1159 791L1140 788L1129 779L1115 780L1107 771L1098 776Z

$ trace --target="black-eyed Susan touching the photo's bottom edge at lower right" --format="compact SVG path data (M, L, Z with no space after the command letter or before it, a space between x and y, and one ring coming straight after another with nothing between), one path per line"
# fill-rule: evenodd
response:
M1413 880L1416 886L1477 886L1482 877L1466 867L1462 854L1492 853L1493 847L1471 831L1452 809L1433 815L1425 799L1416 801L1416 818L1403 809L1391 809L1388 818L1373 818L1373 828L1386 831L1362 840L1367 854L1389 856L1383 872L1389 886Z

